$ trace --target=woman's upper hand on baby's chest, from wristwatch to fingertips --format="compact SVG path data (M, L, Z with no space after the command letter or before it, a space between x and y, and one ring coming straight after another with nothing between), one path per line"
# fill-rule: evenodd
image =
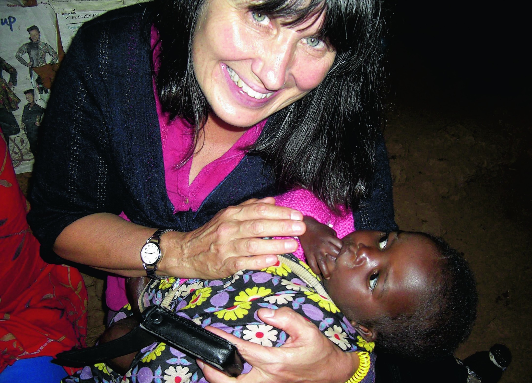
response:
M292 237L305 232L303 215L275 205L273 197L249 199L218 212L201 228L161 237L163 259L158 273L181 278L215 279L238 270L261 270L277 262L276 254L297 249Z

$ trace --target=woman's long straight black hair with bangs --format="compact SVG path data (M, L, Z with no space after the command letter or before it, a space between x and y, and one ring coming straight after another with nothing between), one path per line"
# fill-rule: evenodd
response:
M195 124L196 134L209 113L191 55L204 2L160 1L155 16L162 42L156 84L163 109ZM333 209L356 207L369 193L381 118L380 0L264 0L248 8L273 18L289 16L290 24L325 11L320 37L337 51L321 84L270 116L250 153L273 164L281 187L309 189Z

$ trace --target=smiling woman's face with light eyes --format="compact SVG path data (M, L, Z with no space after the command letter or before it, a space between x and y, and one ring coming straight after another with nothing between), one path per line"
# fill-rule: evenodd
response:
M223 121L253 126L325 78L336 53L314 37L323 14L283 26L286 20L248 11L247 1L207 2L193 40L194 72Z

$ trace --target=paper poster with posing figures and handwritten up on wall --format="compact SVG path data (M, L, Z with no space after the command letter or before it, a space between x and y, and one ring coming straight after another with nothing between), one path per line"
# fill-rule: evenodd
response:
M37 134L50 97L49 79L39 75L59 62L56 18L44 2L24 7L0 1L0 126L16 173L31 171Z

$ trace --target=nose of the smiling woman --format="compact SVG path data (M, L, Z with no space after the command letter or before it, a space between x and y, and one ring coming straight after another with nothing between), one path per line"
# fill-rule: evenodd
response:
M257 52L251 70L265 88L279 90L285 85L294 55L293 41L286 38L267 40L261 52Z

